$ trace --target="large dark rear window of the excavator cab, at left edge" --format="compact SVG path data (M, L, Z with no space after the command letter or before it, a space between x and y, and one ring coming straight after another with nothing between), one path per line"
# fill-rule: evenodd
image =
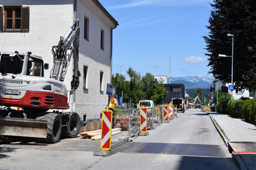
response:
M24 59L24 55L19 55ZM20 74L22 72L23 61L17 55L2 54L0 61L0 70L4 70L9 74Z

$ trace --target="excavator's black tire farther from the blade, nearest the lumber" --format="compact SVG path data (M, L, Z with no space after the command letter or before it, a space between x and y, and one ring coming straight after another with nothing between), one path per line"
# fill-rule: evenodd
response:
M80 132L80 117L77 113L70 112L69 113L69 120L68 120L68 126L62 127L61 136L62 137L68 137L68 138L74 138L78 135Z

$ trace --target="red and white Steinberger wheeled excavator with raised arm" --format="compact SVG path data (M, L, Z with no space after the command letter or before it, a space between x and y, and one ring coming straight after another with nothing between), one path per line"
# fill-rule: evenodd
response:
M60 135L76 137L80 118L69 109L68 95L79 86L79 20L75 19L64 37L52 47L53 67L32 52L0 52L0 135L35 137L39 142L56 143ZM70 93L63 83L73 56L74 75ZM33 72L31 66L37 67ZM29 67L30 66L30 67ZM74 98L75 96L73 96ZM21 109L14 109L21 108ZM49 111L52 110L52 111Z

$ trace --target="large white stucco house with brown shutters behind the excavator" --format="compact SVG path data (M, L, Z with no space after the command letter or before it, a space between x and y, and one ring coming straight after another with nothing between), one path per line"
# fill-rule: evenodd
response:
M80 86L75 111L83 119L99 118L108 104L106 84L112 73L112 30L118 22L98 0L2 0L0 4L0 48L3 52L27 52L53 66L52 46L58 45L74 21L74 3L80 27ZM71 59L72 61L72 59ZM73 62L73 61L72 61ZM73 75L70 63L64 83L70 90ZM70 109L72 99L70 97ZM69 96L68 96L69 98ZM62 110L61 110L62 111Z

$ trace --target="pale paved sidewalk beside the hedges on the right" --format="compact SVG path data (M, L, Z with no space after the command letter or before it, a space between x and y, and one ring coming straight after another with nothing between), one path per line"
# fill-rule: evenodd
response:
M256 126L223 113L207 112L223 129L221 133L233 150L233 155L243 169L256 167Z

